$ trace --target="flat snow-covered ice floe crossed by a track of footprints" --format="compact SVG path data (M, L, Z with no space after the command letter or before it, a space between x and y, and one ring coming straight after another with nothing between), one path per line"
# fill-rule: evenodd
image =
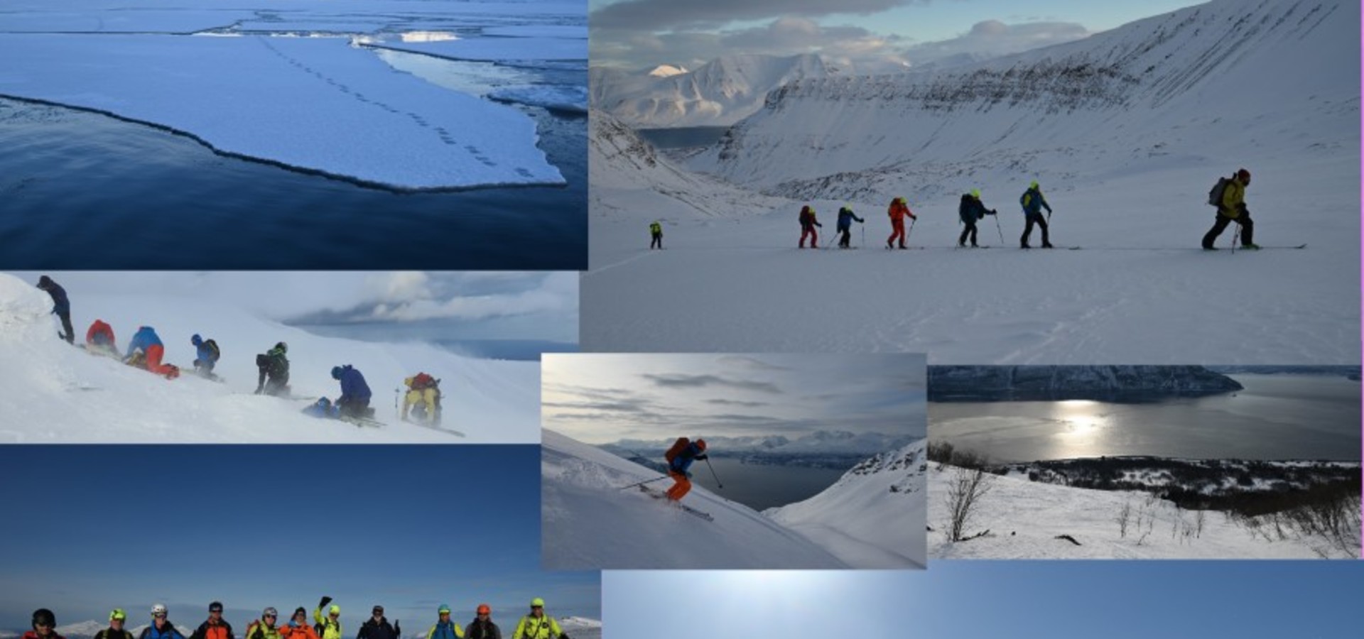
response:
M558 185L520 110L342 38L0 35L0 95L192 135L220 153L398 189Z

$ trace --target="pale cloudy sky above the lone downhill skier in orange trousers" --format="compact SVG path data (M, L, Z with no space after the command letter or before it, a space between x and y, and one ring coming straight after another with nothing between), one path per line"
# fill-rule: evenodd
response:
M923 437L922 354L547 354L542 424L580 441L847 431Z

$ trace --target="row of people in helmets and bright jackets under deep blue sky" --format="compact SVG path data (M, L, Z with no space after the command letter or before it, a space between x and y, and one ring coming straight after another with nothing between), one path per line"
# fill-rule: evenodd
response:
M318 608L312 610L312 624L308 624L308 612L299 606L293 616L284 624L280 623L280 613L271 606L262 610L261 617L247 624L243 639L341 639L341 606L329 605L331 597L323 597ZM326 609L327 613L322 614ZM109 612L109 627L95 634L94 639L134 639L132 634L124 629L127 613L121 608ZM64 639L56 632L56 614L46 608L33 612L33 629L25 632L23 639ZM374 606L371 617L360 625L356 639L401 639L402 627L394 620L389 624L383 616L383 606ZM168 619L166 606L157 604L151 606L151 624L142 629L136 639L236 639L232 634L232 624L222 619L222 604L214 601L209 604L209 619L188 636L184 635ZM502 639L502 629L492 623L492 608L479 604L473 621L466 627L450 619L450 606L442 604L436 609L436 623L427 631L426 639ZM569 639L559 623L544 613L544 599L536 597L531 599L531 612L517 621L512 639Z

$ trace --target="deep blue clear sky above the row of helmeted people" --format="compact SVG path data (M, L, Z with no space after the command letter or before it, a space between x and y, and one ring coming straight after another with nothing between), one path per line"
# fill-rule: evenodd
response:
M323 594L346 632L374 604L405 632L532 597L600 619L595 572L540 570L536 446L5 446L0 469L0 628L155 602L198 625L213 599L244 628Z

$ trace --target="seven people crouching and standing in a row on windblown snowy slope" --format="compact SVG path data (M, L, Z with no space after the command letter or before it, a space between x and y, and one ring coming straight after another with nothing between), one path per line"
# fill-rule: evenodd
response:
M52 296L52 313L61 320L63 332L60 335L68 343L74 345L75 331L71 327L71 300L67 297L65 289L48 275L38 278L38 287ZM190 345L195 347L195 373L205 379L221 381L222 379L213 372L222 357L218 342L203 339L199 334L194 334L190 337ZM155 328L150 326L138 327L138 331L128 342L127 350L120 354L113 327L102 319L95 319L86 331L85 349L95 354L119 358L124 364L146 369L166 379L180 376L179 367L161 361L165 357L165 345L161 342L161 337L157 335ZM256 354L256 395L291 396L288 353L289 345L277 342L270 350ZM331 379L341 384L341 395L334 401L325 396L318 399L311 406L303 409L306 414L327 418L374 418L374 409L370 407L372 392L360 371L349 364L333 367ZM401 418L404 421L439 424L441 380L419 372L406 377L404 386L406 386L408 391L404 395Z

